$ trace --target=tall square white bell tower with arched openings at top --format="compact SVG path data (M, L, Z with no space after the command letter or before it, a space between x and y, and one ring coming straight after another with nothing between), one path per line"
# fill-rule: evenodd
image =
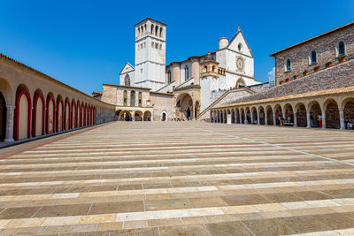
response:
M166 25L144 19L135 25L135 86L156 91L165 85Z

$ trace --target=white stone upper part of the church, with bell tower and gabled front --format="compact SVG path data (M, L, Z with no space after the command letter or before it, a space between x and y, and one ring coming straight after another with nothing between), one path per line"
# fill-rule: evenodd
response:
M229 41L219 39L219 49L208 57L213 66L205 73L208 55L192 56L165 65L166 25L144 19L135 25L135 66L127 63L119 74L120 85L150 88L151 92L173 93L175 89L197 86L200 111L208 108L227 90L262 84L254 80L254 58L242 31ZM127 76L130 84L127 83ZM174 101L177 103L177 101Z

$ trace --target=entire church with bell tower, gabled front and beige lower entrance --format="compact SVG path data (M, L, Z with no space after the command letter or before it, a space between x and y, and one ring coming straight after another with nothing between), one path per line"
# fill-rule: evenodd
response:
M210 108L228 94L251 94L238 88L264 86L254 79L254 57L240 28L231 40L221 37L216 51L166 65L166 27L150 18L137 23L135 65L127 62L119 85L104 84L93 93L116 105L117 119L145 120L145 111L146 120L209 118Z

